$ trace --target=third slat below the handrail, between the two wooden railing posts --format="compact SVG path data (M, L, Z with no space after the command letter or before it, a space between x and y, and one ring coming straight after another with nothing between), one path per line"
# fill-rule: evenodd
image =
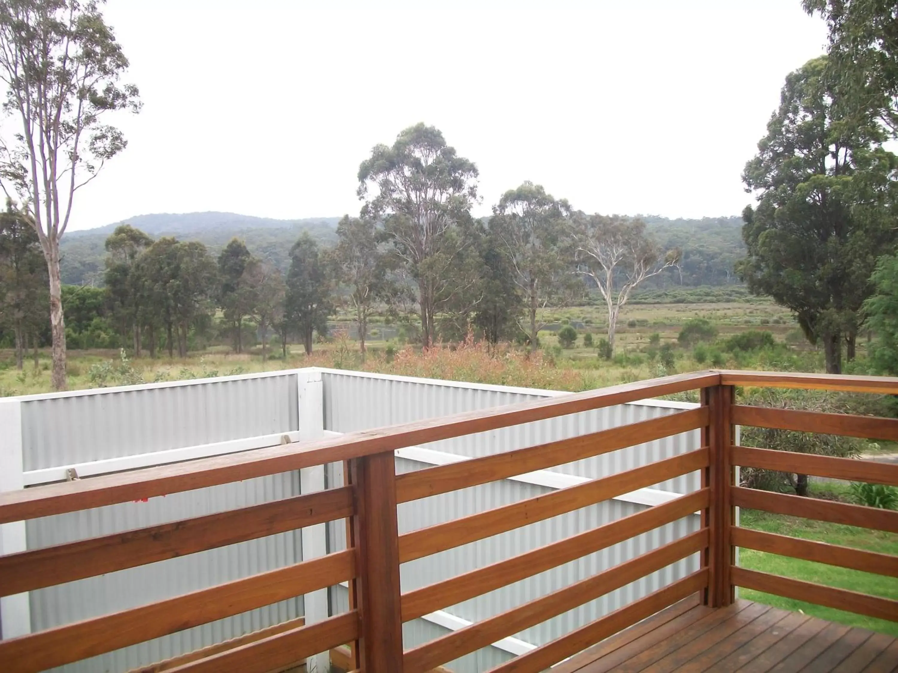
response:
M488 591L550 570L561 564L616 545L623 540L689 516L709 505L709 489L631 514L604 526L564 538L533 551L465 572L445 581L430 584L402 595L402 621L427 615L446 606L461 603Z

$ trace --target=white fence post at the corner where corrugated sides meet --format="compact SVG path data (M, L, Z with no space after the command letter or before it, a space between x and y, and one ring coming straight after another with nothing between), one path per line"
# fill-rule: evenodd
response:
M324 406L321 391L321 371L296 371L299 403L299 441L317 440L324 436ZM324 466L304 468L299 471L300 493L323 491ZM303 560L323 556L327 550L327 524L318 523L303 529ZM330 616L328 590L319 589L303 597L305 623L313 624ZM327 673L330 669L330 653L321 652L306 660L309 673Z

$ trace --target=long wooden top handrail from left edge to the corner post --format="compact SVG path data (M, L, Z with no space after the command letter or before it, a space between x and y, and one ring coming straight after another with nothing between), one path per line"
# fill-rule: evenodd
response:
M347 433L318 441L304 441L10 491L0 494L0 523L127 503L140 498L311 468L323 463L360 458L463 434L482 433L510 425L702 388L715 385L719 379L717 373L707 371L677 374L520 405L496 406L442 418L427 418L415 423Z

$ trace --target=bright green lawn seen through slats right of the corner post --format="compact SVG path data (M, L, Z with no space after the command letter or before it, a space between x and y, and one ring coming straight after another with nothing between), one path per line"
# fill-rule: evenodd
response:
M770 514L763 511L743 510L741 523L745 528L764 530L792 538L805 538L833 545L850 546L883 554L898 555L898 535L876 530L858 529L824 521L799 519L797 517ZM898 560L895 561L898 564ZM869 572L839 568L834 565L817 564L787 556L757 552L753 549L739 550L739 565L751 570L784 575L797 580L813 581L831 587L849 589L872 596L898 599L898 579L883 577ZM784 599L761 591L739 589L741 599L755 600L787 610L801 610L808 615L840 622L851 626L861 626L872 631L898 636L898 623L884 619L854 615L831 607L816 606L801 600ZM896 616L898 619L898 616Z

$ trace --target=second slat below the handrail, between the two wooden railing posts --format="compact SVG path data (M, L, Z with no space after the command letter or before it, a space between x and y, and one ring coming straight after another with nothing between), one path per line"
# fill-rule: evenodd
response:
M635 468L617 475L594 479L576 486L562 488L554 493L538 495L518 503L481 511L462 519L429 526L405 533L399 538L400 562L436 554L454 546L489 538L550 517L579 510L600 503L616 495L672 479L708 466L708 449L683 453L674 458Z

